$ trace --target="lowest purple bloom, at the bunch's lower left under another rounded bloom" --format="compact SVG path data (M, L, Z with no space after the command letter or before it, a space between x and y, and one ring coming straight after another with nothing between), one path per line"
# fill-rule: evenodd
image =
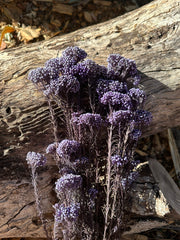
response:
M54 205L54 209L55 209L55 220L58 223L75 222L80 214L79 203L72 203L69 206L56 203Z

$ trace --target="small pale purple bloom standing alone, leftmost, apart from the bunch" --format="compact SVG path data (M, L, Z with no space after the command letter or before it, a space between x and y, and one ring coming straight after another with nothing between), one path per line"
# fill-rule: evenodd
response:
M36 152L28 152L26 155L26 161L31 168L41 167L46 164L45 156Z

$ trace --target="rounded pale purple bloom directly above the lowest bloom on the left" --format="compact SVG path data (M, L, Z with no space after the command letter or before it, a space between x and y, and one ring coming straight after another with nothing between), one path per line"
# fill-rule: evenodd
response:
M55 183L55 190L57 194L65 193L66 191L72 191L81 188L82 177L75 174L65 174L57 180Z

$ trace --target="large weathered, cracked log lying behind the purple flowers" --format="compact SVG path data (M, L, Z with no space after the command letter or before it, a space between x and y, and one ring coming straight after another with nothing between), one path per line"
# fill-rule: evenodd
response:
M177 126L180 124L179 11L176 0L153 1L108 22L0 53L0 237L44 236L23 159L29 150L44 150L52 141L52 133L47 104L27 80L27 72L71 45L85 49L89 58L100 64L106 64L110 53L119 53L134 59L141 72L148 95L146 109L154 117L146 134ZM57 109L57 115L58 112ZM51 179L55 172L51 163L47 172L40 174L45 213L50 221L54 203ZM144 199L149 207L135 204L136 210L132 208L132 212L157 216L154 183L146 184L146 188L143 186L148 183L147 177L143 181L134 189L137 195L143 192L144 198L142 194L140 198L133 194L133 202Z

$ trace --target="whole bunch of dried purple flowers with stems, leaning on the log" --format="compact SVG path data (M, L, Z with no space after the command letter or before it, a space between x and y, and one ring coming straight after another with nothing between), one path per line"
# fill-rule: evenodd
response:
M105 67L86 57L87 53L77 46L68 47L61 57L32 70L28 78L43 91L49 103L56 101L68 130L67 139L46 149L47 154L56 153L60 174L55 183L59 199L54 205L55 221L63 223L64 238L110 239L117 225L115 219L123 222L124 204L117 212L111 209L119 208L119 202L125 201L126 192L135 180L134 149L152 116L143 110L146 96L137 87L140 76L133 60L111 54ZM26 160L32 169L46 163L44 155L35 152L29 152ZM87 224L87 217L92 223ZM99 233L104 227L102 222L106 227L104 233ZM76 224L87 224L86 232L92 235L85 236L85 231L84 235L79 234Z

